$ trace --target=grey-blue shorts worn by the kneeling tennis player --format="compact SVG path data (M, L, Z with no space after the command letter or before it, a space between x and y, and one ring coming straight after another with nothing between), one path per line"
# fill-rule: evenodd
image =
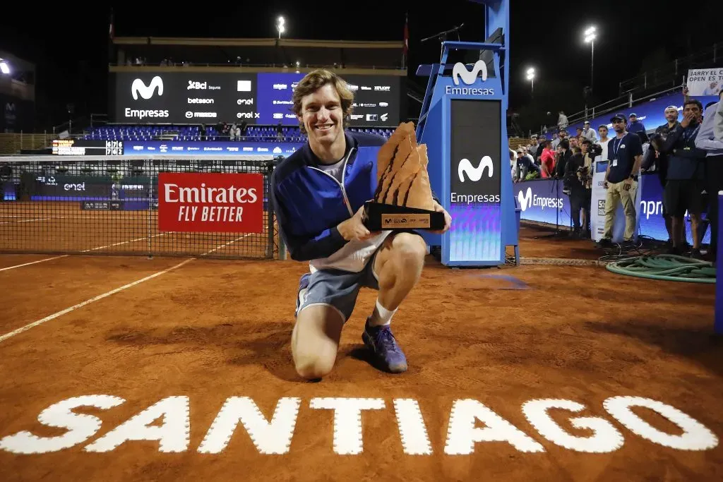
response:
M354 311L356 296L362 287L379 290L379 277L374 272L376 258L377 253L360 272L318 270L301 276L294 316L307 306L328 305L335 308L346 322Z

